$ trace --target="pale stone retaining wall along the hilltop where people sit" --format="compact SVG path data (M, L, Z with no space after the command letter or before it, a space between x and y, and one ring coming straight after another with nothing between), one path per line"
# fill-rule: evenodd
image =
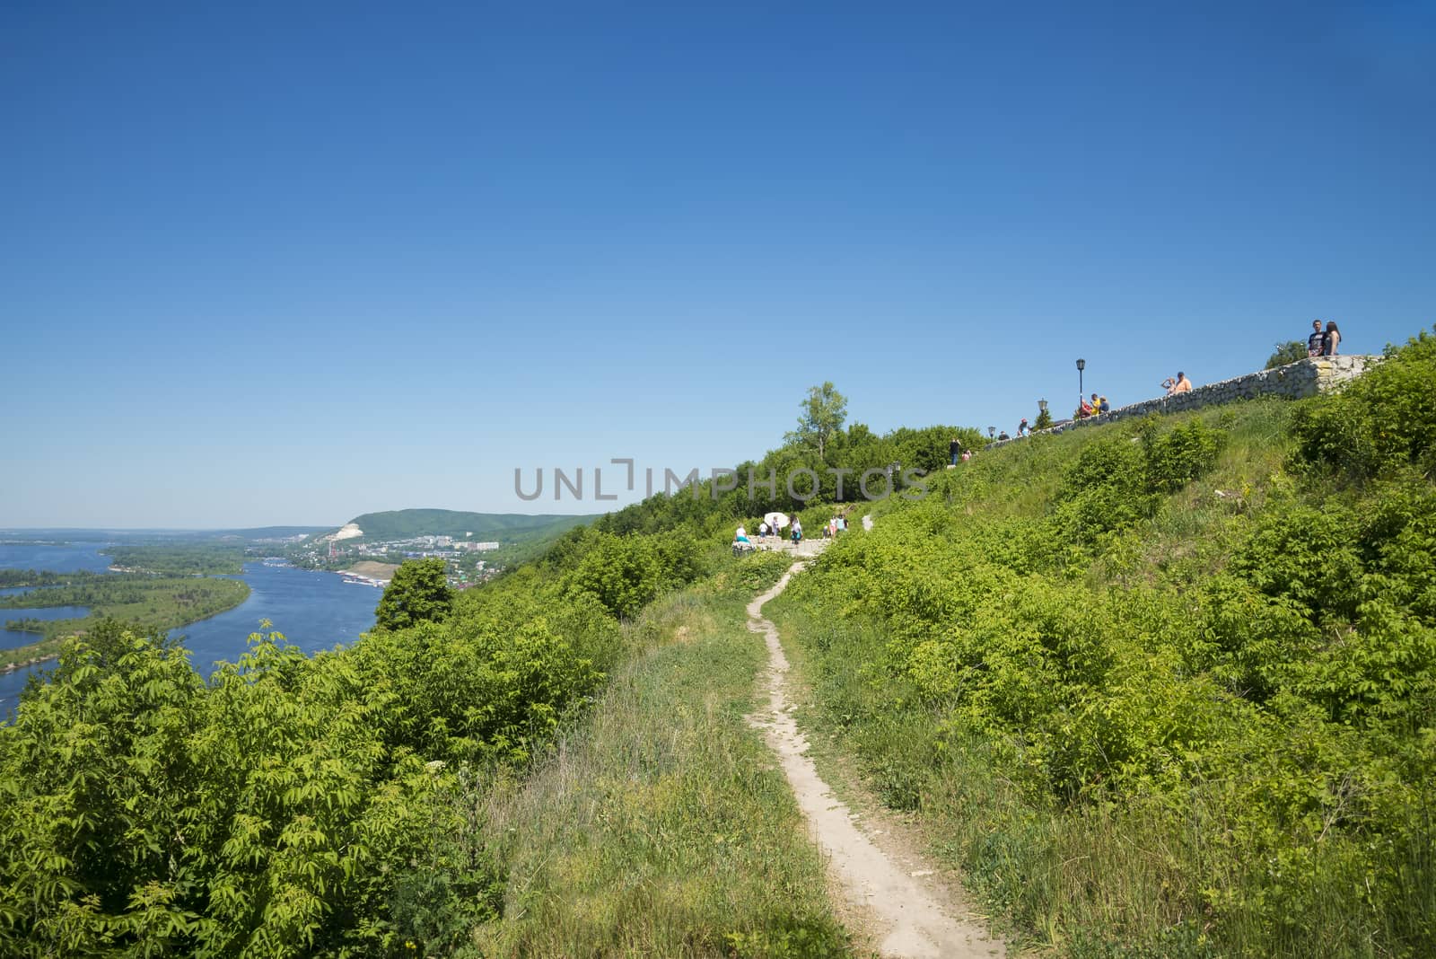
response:
M1255 399L1258 396L1301 399L1304 396L1315 396L1317 393L1330 393L1331 390L1350 383L1353 379L1364 373L1369 366L1379 362L1381 362L1380 356L1321 356L1317 359L1302 359L1295 363L1278 366L1277 369L1264 369L1256 373L1246 373L1245 376L1234 376L1232 379L1208 383L1206 386L1196 386L1189 393L1157 396L1156 399L1144 399L1140 403L1132 403L1130 406L1119 406L1110 413L1103 413L1101 416L1073 419L1040 432L1060 434L1067 429L1076 429L1077 426L1100 426L1117 419L1127 419L1129 416L1146 416L1147 413L1179 413L1186 409L1200 409L1202 406L1231 403L1238 399ZM984 446L984 449L1002 446L1010 442L1017 442L1018 439L1021 439L1021 436L1014 439L997 439Z

